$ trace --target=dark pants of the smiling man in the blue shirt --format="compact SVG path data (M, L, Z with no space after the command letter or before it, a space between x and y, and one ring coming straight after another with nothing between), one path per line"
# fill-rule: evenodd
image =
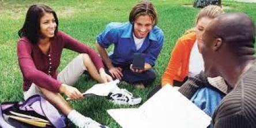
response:
M143 71L142 73L134 73L130 70L130 66L114 65L115 67L121 67L123 77L121 81L128 82L130 84L142 83L144 86L151 84L156 79L156 73L153 69ZM105 69L106 73L111 75L108 69Z

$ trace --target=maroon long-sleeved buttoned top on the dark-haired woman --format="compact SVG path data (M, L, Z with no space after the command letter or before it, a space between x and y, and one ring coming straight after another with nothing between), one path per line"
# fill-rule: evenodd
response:
M23 75L23 91L28 91L31 84L59 92L61 82L57 81L57 68L61 60L63 48L79 53L86 53L92 59L96 69L103 67L97 52L78 40L59 31L51 39L49 54L43 54L37 44L32 44L27 37L21 37L17 44L18 63Z

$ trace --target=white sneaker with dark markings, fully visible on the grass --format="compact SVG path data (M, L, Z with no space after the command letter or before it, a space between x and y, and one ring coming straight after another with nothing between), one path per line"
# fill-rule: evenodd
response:
M124 105L136 105L141 103L141 98L133 97L133 94L127 91L126 89L116 89L112 91L109 95L110 101L114 104L124 104Z

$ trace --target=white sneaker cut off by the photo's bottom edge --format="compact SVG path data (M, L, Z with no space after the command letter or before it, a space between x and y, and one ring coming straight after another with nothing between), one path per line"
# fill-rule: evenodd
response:
M108 128L108 126L103 126L100 123L93 121L93 119L84 116L84 122L78 125L79 128Z

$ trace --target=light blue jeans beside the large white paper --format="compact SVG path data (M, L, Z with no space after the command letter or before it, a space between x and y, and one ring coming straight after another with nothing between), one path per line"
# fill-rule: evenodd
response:
M204 87L198 89L190 100L207 115L212 117L215 108L219 106L223 97L224 94L217 89ZM208 127L212 127L212 124Z

